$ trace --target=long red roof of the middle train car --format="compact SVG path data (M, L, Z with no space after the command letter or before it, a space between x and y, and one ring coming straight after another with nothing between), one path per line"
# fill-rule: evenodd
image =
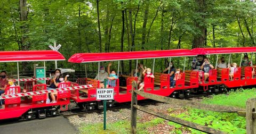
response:
M113 52L113 53L77 53L72 55L68 62L86 63L119 60L137 60L146 58L182 57L196 56L197 54L189 49L171 49L162 51L134 51L134 52Z

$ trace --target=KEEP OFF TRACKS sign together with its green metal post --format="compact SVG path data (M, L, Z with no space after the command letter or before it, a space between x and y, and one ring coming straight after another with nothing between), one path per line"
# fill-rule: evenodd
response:
M97 88L97 100L103 101L103 116L104 116L104 122L103 122L103 130L106 130L106 118L107 118L107 100L113 100L114 99L114 88L106 88L107 82L106 79L104 81L104 87L105 88Z

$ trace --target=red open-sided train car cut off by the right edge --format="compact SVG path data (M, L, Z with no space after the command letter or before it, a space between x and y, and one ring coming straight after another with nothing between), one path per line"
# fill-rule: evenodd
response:
M209 81L199 83L199 86L204 87L204 90L208 90L208 87L216 88L217 85L223 85L228 88L256 85L255 74L253 74L253 53L256 52L256 47L194 48L191 51L197 55L217 56L215 69L211 70ZM251 62L247 66L241 66L244 53L252 54ZM234 70L233 80L229 78L229 68L217 68L220 54L229 55L228 64L231 64L231 54L241 54L240 62Z

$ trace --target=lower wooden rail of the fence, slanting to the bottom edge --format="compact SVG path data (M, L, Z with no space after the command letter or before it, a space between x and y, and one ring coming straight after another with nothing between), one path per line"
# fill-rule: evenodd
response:
M196 129L196 130L199 130L199 131L202 131L202 132L206 132L206 133L224 133L220 130L216 130L216 129L213 129L213 128L210 128L210 127L206 127L205 125L197 124L197 123L194 123L194 122L182 120L180 118L175 118L173 116L169 116L169 115L163 114L161 112L153 111L153 110L151 110L149 108L145 108L143 106L139 106L139 105L133 105L133 106L135 108L137 108L138 110L140 110L140 111L158 116L159 118L163 118L165 120L169 120L169 121L181 124L181 125L185 125L186 127L193 128L193 129Z

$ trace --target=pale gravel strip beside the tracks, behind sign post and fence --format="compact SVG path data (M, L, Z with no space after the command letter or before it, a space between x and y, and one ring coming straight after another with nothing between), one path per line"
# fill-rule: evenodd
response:
M201 102L202 99L198 98L190 98L190 101L193 102ZM154 105L147 105L147 108L150 108L151 110L168 113L168 109L172 108L172 113L179 114L181 112L186 111L184 108L174 105L174 104L165 104L165 103L156 103ZM170 113L170 112L169 112ZM150 121L156 116L147 114L145 112L137 111L137 117L139 118L139 122L146 122ZM119 120L128 120L130 121L131 118L131 110L128 108L124 108L121 110L116 111L107 111L107 122L108 123L114 123ZM69 118L70 123L74 124L75 127L79 128L82 124L93 124L93 123L102 123L103 122L103 114L102 113L88 113L84 115L75 115L70 116ZM171 127L170 127L171 129ZM168 129L169 130L169 129Z

